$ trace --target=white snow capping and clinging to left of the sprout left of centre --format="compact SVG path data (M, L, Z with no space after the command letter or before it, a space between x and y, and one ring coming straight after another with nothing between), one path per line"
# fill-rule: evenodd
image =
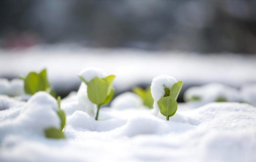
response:
M80 72L79 75L82 76L87 83L96 76L98 78L105 78L107 76L107 74L100 68L85 68ZM84 108L84 112L93 117L96 110L96 104L89 100L87 94L87 85L84 82L81 83L81 86L77 92L77 99L79 105Z

